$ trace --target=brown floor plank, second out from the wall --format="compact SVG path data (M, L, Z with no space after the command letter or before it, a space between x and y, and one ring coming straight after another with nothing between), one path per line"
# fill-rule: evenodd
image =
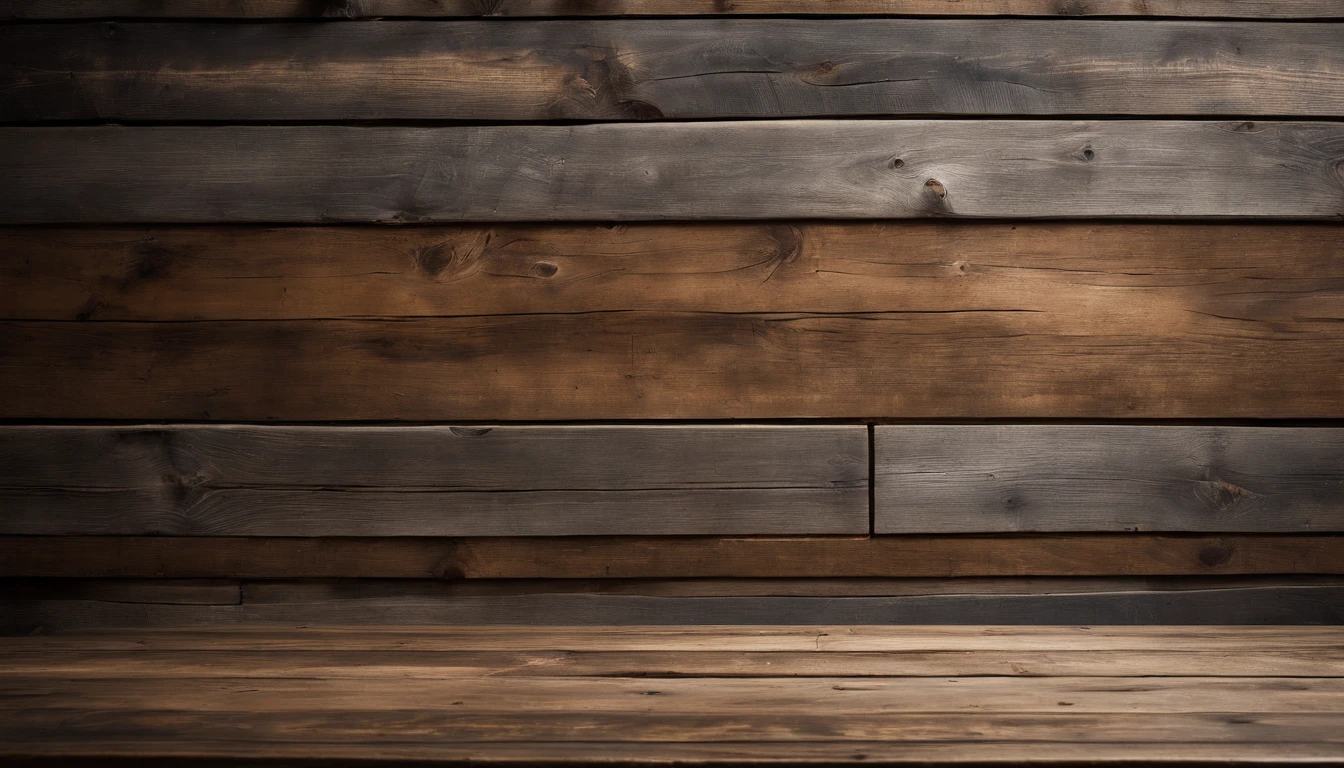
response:
M7 650L3 677L1309 677L1344 678L1344 648L1254 651L55 651Z

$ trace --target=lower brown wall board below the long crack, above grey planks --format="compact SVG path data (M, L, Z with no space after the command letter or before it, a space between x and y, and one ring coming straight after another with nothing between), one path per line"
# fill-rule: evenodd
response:
M1142 311L1142 307L1136 307ZM1048 312L0 323L9 418L1327 418L1344 324ZM1146 325L1152 328L1152 325ZM1063 364L1062 360L1066 363Z

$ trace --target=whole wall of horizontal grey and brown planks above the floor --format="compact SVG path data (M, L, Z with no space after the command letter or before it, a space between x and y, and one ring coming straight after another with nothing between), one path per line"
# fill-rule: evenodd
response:
M0 629L1344 621L1336 0L0 0Z

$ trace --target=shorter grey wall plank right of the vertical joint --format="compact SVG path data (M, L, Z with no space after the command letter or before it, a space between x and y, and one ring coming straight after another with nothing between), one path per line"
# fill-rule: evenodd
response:
M1344 430L878 426L876 533L1341 531Z

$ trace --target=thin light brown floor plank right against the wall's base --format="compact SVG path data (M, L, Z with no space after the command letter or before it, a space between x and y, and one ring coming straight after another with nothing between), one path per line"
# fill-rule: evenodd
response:
M958 654L1161 652L1235 655L1292 654L1329 658L1340 647L1339 627L1034 627L1034 625L681 625L528 627L204 627L99 629L77 635L5 638L15 654L171 651L563 651L563 652L734 652L734 654Z

